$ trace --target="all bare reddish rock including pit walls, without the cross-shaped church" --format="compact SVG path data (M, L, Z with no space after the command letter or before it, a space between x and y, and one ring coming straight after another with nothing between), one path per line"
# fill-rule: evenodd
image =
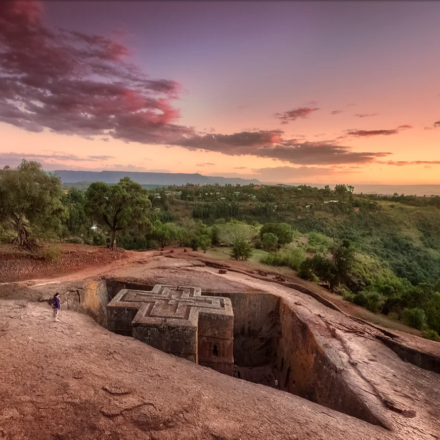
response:
M0 439L438 440L440 344L269 277L154 258L109 278L2 285L3 297L35 299L0 300ZM102 327L121 289L156 283L229 298L237 372L258 384ZM55 291L58 323L37 301Z

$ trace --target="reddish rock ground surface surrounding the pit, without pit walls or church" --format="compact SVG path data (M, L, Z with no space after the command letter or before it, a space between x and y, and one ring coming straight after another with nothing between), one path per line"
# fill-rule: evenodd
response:
M183 254L126 254L58 276L1 280L0 439L440 438L440 375L403 362L379 337L434 357L440 344L387 333L257 274L219 275ZM337 377L388 429L168 356L66 310L69 292L100 277L280 297ZM63 303L58 323L46 302L35 302L55 291Z

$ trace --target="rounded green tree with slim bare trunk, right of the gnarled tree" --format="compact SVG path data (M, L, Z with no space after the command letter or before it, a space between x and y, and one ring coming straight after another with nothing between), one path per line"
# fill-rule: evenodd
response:
M116 232L127 226L145 230L151 202L147 191L128 177L116 185L94 182L87 188L86 212L101 226L110 231L109 247L116 246Z

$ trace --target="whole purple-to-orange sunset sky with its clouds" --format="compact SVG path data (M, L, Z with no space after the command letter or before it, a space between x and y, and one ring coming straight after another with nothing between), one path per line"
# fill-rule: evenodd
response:
M440 2L2 1L0 166L440 184Z

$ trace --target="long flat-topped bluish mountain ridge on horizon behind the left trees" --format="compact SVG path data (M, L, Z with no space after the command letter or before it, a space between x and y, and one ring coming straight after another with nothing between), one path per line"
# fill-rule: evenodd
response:
M173 173L173 172L139 172L139 171L73 171L73 170L55 170L62 183L78 182L105 182L107 184L118 183L123 177L129 177L134 182L141 185L186 185L191 184L215 184L219 185L249 185L250 183L260 184L256 179L226 178L202 175L199 173Z

